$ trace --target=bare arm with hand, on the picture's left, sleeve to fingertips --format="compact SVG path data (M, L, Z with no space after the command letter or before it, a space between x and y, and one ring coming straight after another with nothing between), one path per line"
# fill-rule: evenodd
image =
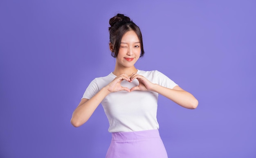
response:
M74 127L83 125L92 116L101 101L111 92L118 92L121 90L130 92L129 88L121 86L121 81L123 80L130 81L130 78L128 75L122 74L111 81L106 87L102 88L91 99L82 99L72 114L71 124Z

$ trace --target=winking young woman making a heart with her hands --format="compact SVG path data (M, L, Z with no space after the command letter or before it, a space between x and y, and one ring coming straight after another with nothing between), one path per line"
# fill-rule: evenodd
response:
M195 109L198 101L161 72L135 68L144 49L141 31L130 18L117 14L109 23L115 69L90 83L71 123L83 125L101 103L112 133L107 158L167 158L156 118L158 94L188 109Z

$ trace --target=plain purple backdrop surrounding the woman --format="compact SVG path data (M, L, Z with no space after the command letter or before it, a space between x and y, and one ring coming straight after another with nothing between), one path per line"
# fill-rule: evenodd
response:
M187 110L160 96L170 158L256 157L254 0L0 1L0 158L101 158L110 144L100 105L70 118L95 77L114 70L108 20L141 28L140 70L159 70L198 100Z

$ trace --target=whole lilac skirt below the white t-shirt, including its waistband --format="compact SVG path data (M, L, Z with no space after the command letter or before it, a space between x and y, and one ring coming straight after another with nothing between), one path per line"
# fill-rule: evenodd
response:
M168 158L158 129L112 133L106 158Z

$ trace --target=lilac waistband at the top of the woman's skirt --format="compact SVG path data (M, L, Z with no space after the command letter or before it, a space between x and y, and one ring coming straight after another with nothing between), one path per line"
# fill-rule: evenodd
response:
M136 132L112 133L112 141L141 140L149 138L160 138L158 129L150 129Z

